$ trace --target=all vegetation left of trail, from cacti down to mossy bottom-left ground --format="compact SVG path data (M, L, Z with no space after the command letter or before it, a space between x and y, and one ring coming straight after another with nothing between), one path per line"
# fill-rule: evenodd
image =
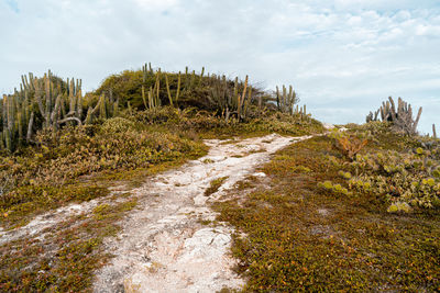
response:
M111 256L102 239L135 209L130 187L206 154L202 138L321 133L321 123L294 109L296 93L266 92L246 77L195 71L124 71L82 94L80 80L51 71L22 77L3 95L0 224L26 225L70 203L101 202L89 213L0 246L0 291L89 291L94 270ZM110 188L125 184L128 192Z

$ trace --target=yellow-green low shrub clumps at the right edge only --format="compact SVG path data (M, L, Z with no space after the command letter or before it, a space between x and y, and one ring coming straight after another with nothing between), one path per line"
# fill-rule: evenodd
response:
M349 187L351 190L381 194L391 203L391 212L397 212L395 207L402 203L411 207L440 206L440 165L437 156L437 150L421 147L410 154L383 151L358 155L352 162L356 176L349 180Z

